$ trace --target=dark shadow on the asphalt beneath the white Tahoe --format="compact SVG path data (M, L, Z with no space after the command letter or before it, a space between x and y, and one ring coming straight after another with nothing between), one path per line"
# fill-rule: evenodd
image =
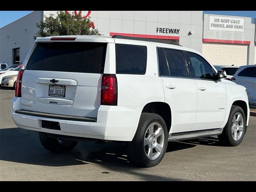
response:
M183 150L198 144L218 146L218 140L206 138L186 142L169 142L166 152ZM96 163L115 169L138 168L129 162L124 144L78 142L71 152L55 154L42 147L38 132L21 128L0 129L0 160L42 166Z

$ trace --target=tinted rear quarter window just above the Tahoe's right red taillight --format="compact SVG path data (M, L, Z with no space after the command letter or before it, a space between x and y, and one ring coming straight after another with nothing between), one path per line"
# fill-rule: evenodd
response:
M138 45L116 44L116 73L146 73L147 47Z

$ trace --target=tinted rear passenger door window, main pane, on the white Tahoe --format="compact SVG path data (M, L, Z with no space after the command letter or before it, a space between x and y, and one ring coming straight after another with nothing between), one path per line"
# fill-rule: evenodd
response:
M186 61L182 51L164 49L171 77L188 77Z

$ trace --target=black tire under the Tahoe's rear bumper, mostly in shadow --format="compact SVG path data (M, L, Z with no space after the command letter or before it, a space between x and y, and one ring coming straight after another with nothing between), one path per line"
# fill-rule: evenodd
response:
M44 132L39 132L39 139L47 150L54 153L68 152L74 149L77 141L59 140L57 138L51 138Z

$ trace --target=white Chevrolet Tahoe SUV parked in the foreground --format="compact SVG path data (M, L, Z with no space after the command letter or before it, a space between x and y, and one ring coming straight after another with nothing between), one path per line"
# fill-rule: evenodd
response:
M128 158L157 165L168 141L218 135L239 145L249 121L243 86L197 51L123 36L37 38L20 70L12 119L47 150L121 141Z

